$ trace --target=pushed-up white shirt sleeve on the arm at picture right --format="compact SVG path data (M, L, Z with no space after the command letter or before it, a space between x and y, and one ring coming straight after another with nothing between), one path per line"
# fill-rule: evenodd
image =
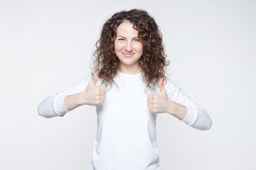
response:
M186 95L169 78L166 79L167 81L164 86L166 87L170 100L186 106L187 108L186 117L181 121L198 130L209 130L212 125L212 120L206 109L195 103L192 98Z

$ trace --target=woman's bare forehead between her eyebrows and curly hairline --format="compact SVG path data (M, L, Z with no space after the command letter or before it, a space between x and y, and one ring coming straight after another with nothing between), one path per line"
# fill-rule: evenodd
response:
M134 24L130 23L129 21L122 22L117 27L117 36L122 35L124 37L137 37L138 30L133 28Z

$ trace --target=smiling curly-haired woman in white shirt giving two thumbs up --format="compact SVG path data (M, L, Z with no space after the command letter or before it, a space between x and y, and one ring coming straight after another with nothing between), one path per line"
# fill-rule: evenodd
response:
M93 77L46 98L38 113L63 116L96 106L97 137L90 170L160 169L156 115L169 113L208 130L211 119L168 77L162 37L154 18L133 9L115 13L96 44Z

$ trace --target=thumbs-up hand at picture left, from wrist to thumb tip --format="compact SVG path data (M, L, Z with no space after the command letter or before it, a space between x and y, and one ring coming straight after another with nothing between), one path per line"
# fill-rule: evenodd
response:
M85 91L82 91L83 101L87 105L96 106L105 101L107 88L105 86L96 86L97 79L97 74L93 72L92 81L88 84Z

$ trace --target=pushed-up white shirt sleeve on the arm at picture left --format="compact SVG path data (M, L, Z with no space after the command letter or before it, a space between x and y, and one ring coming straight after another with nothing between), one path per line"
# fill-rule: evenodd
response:
M38 106L38 114L45 118L53 118L55 116L63 116L69 111L63 106L65 96L71 94L78 94L84 91L91 78L88 76L86 79L82 79L72 86L68 87L65 91L60 91L53 96L45 98ZM72 111L72 110L71 110Z

